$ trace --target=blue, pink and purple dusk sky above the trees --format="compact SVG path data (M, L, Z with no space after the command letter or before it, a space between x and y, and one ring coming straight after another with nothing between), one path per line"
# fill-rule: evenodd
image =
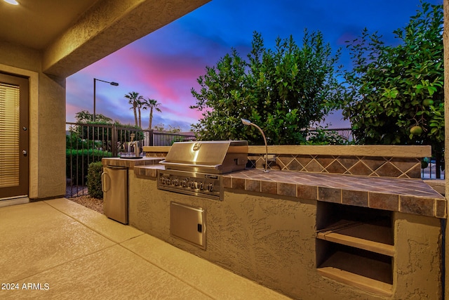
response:
M429 0L443 4L443 0ZM349 69L349 51L344 41L352 40L367 27L383 35L386 44L396 45L394 30L405 27L415 15L419 0L213 0L156 32L135 41L97 63L67 78L67 122L76 112L93 113L93 78L116 81L111 86L97 81L96 113L123 124L134 124L133 110L124 98L132 91L161 103L154 112L153 125L180 126L188 131L201 112L190 90L198 90L196 79L206 73L234 47L241 57L250 51L253 32L262 34L267 48L276 37L293 35L302 43L304 29L321 31L333 51L342 47L340 64ZM149 114L142 111L142 128ZM349 127L336 113L326 119L330 128Z

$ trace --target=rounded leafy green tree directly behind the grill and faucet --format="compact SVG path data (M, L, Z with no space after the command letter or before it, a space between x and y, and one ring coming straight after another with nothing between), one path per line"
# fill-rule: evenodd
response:
M201 140L243 139L263 143L262 136L241 118L259 125L271 144L305 141L311 123L337 107L342 86L335 77L333 55L321 32L304 31L302 47L293 37L276 39L274 49L264 47L261 34L253 34L247 60L235 49L197 79L192 89L203 119L193 124ZM306 131L301 131L306 129Z

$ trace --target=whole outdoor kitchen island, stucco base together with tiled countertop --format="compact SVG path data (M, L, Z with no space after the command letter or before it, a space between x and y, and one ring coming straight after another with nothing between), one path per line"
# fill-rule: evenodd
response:
M440 218L445 212L438 206L445 207L445 200L420 180L286 171L264 174L254 169L223 176L223 200L217 201L158 190L159 168L136 166L128 174L129 222L145 233L295 299L441 299ZM406 185L409 181L413 184ZM347 200L347 195L358 197ZM412 200L433 206L417 205L409 212L405 203ZM170 235L170 202L206 211L206 249ZM373 211L390 220L389 252L368 257L373 261L370 268L382 266L389 277L386 283L372 281L380 284L379 290L351 281L354 273L338 278L323 272L328 270L326 263L334 263L335 254L352 259L369 252L352 247L352 240L347 246L318 238L319 223L335 208L340 213L340 207L362 209L363 214Z

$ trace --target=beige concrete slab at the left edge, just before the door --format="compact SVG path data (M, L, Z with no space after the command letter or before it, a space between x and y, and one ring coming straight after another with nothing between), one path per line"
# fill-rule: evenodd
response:
M44 202L0 209L0 283L15 282L114 245ZM0 287L0 298L1 298Z

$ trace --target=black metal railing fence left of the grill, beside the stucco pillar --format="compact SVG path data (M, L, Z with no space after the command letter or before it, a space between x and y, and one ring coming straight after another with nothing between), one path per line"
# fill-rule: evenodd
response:
M166 146L195 138L193 134L155 132L131 126L83 123L66 123L66 126L65 197L88 195L87 172L92 162L101 162L103 157L134 156L131 137L133 141L138 141L140 155L145 155L143 146Z

